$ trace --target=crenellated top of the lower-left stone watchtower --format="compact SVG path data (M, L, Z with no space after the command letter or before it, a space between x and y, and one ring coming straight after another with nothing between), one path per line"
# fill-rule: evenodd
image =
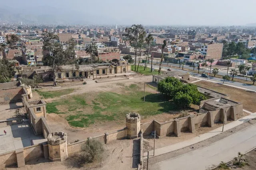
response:
M53 132L48 135L50 145L60 145L67 141L67 134L64 132Z

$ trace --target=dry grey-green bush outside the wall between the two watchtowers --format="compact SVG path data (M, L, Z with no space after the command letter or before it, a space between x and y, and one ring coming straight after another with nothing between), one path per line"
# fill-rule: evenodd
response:
M84 151L84 158L87 162L99 161L102 159L104 148L102 143L94 139L88 139L81 147Z

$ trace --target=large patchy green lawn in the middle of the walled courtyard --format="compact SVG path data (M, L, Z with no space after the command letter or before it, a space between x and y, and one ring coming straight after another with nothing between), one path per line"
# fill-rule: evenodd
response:
M122 120L130 112L140 115L157 115L175 110L174 104L166 101L161 94L146 92L146 102L144 103L143 91L137 85L124 86L124 90L126 90L125 94L100 92L96 95L89 93L70 96L47 103L46 110L48 113L66 113L66 120L74 127L87 127L95 121ZM92 95L94 95L93 100ZM90 98L90 101L86 98ZM57 107L67 107L67 111L59 111Z

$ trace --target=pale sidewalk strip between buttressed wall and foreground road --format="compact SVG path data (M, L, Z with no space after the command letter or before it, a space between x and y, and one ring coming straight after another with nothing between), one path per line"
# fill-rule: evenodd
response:
M254 118L256 118L256 113L252 113L248 116L245 116L241 119L238 119L237 121L233 121L231 123L228 123L228 124L224 125L224 131L228 131L229 129L232 129L232 128L238 126L238 125L241 125L242 123L248 122L248 121L250 121L251 119L254 119ZM169 145L169 146L166 146L166 147L156 149L155 150L155 156L165 154L165 153L168 153L168 152L172 152L174 150L182 149L184 147L187 147L187 146L193 145L195 143L198 143L198 142L204 141L206 139L209 139L211 137L214 137L214 136L216 136L220 133L222 133L222 127L218 127L216 129L208 132L208 133L204 133L200 136L194 137L194 138L189 139L187 141L183 141L183 142L180 142L180 143L176 143L176 144L173 144L173 145ZM153 152L154 152L154 150L150 150L149 155L153 155ZM144 159L147 159L147 155L148 155L148 153L144 152L144 154L143 154ZM150 157L153 157L153 156L150 156Z

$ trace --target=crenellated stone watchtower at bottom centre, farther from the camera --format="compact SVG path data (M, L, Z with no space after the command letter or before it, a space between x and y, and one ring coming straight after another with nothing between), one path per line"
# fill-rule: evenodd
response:
M138 113L128 113L126 115L127 138L133 139L140 133L140 115Z

